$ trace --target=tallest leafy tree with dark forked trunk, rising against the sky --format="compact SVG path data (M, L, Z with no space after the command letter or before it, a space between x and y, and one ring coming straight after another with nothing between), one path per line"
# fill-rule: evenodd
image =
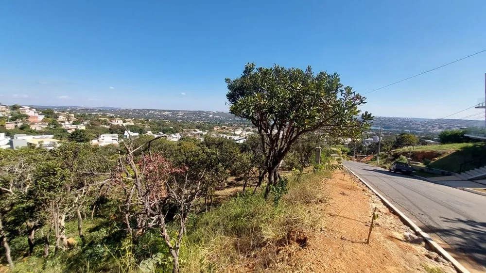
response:
M344 86L339 75L274 65L246 64L241 77L226 79L230 112L258 128L270 188L278 183L278 166L302 135L321 129L329 136L357 136L372 119L358 107L365 98Z

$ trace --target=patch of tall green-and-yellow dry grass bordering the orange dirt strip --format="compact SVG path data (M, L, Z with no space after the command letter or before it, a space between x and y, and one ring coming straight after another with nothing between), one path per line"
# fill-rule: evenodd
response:
M319 182L330 176L324 170L289 177L278 207L260 193L245 193L193 219L181 250L182 271L261 271L276 261L284 269L282 261L305 246L306 233L319 222L308 205L325 200Z

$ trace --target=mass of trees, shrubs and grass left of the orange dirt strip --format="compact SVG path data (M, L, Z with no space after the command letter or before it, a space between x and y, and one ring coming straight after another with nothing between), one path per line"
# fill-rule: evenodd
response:
M14 272L211 272L254 259L264 270L281 247L305 245L316 223L307 205L325 199L314 181L339 168L343 152L325 150L310 167L313 147L368 128L364 97L310 67L247 64L226 83L231 113L258 131L243 144L141 136L99 147L81 132L52 150L0 150L0 263Z

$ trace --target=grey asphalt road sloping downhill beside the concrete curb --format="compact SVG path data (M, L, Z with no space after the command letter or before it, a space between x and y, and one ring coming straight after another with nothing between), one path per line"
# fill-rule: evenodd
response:
M416 224L454 250L466 253L486 271L486 196L469 193L382 168L344 162ZM420 225L422 224L422 225Z

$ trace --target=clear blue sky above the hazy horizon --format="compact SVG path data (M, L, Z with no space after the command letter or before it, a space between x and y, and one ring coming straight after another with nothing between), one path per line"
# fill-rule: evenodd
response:
M224 79L247 62L312 65L365 93L486 49L485 0L168 2L1 1L0 102L227 111ZM363 110L442 117L484 101L484 73L486 52Z

